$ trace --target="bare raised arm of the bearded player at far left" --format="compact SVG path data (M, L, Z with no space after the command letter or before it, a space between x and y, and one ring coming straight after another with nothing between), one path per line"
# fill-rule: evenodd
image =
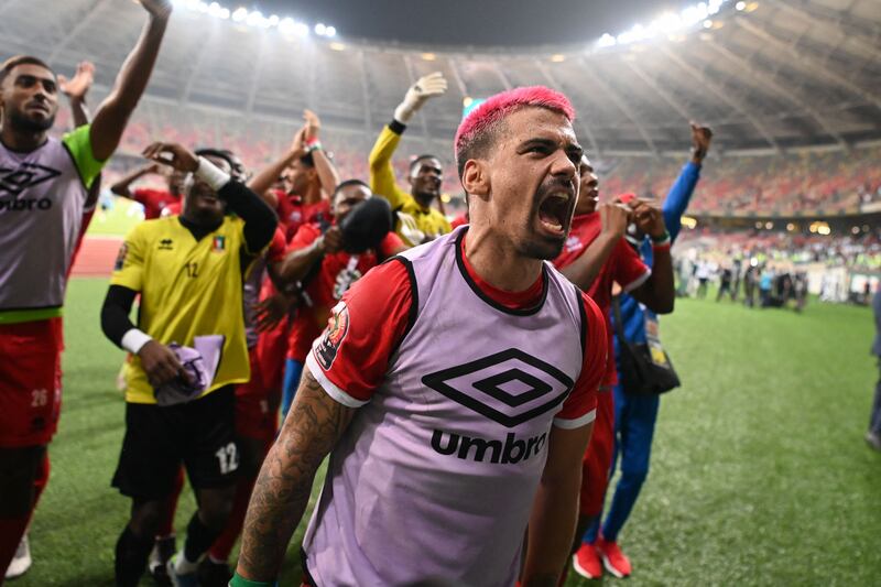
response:
M150 80L172 13L171 0L140 0L140 3L150 18L138 44L122 64L110 96L101 102L91 122L91 151L98 161L106 161L119 145L129 117Z

